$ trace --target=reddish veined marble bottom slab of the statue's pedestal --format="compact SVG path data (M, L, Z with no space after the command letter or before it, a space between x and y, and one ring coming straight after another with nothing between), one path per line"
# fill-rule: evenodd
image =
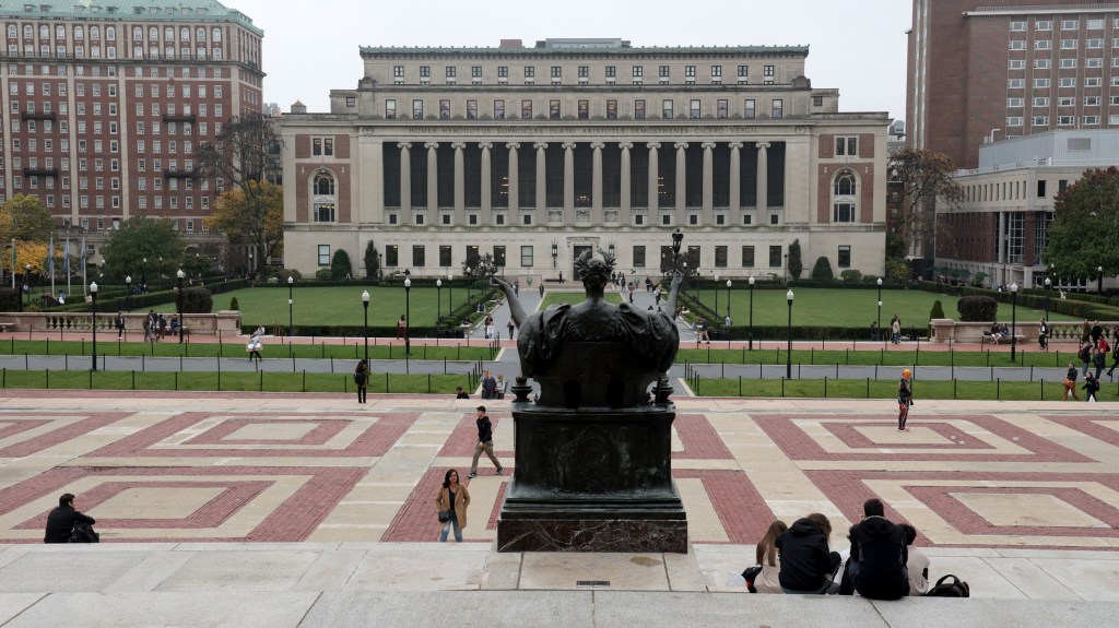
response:
M680 513L683 515L683 513ZM688 524L676 521L535 518L497 523L499 552L687 553Z

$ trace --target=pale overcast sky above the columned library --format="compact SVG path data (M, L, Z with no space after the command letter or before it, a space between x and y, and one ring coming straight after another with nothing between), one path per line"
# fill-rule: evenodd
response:
M633 46L807 45L808 78L814 87L838 88L840 111L905 113L906 0L220 1L264 30L264 99L284 112L297 99L326 112L330 89L356 87L359 46L615 37Z

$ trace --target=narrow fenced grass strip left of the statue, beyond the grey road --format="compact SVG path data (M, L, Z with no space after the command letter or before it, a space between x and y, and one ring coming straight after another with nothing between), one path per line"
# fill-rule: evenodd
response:
M148 355L162 358L214 358L217 355L242 358L245 355L245 343L243 342L199 342L179 344L175 339L167 339L162 342L119 342L116 334L106 334L109 337L97 342L98 355ZM139 337L140 334L130 334ZM0 341L0 352L11 355L90 355L93 345L90 341L41 341L41 340L16 340L9 339ZM365 343L363 339L351 339L347 344L316 343L316 344L285 344L279 340L264 339L261 353L265 358L317 358L356 360L365 355ZM399 342L389 344L384 340L369 339L370 360L403 360L404 348ZM493 353L487 346L461 346L443 345L435 346L429 344L412 345L413 360L453 360L469 361L492 360Z

